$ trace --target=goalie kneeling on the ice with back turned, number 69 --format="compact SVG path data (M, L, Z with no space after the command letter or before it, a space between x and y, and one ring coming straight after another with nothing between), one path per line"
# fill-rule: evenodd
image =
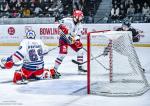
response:
M19 49L7 59L3 59L3 67L11 69L19 61L23 61L22 68L15 71L13 82L25 84L29 79L57 79L59 75L54 71L44 70L43 54L48 51L48 47L41 40L35 39L36 34L30 30L26 33L26 38L19 46Z

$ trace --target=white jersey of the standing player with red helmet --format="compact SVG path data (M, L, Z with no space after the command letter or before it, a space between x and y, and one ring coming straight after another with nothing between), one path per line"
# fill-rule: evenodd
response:
M81 23L75 25L73 18L63 18L59 23L65 25L69 29L69 35L74 36L75 39L80 39L83 32L83 26Z

